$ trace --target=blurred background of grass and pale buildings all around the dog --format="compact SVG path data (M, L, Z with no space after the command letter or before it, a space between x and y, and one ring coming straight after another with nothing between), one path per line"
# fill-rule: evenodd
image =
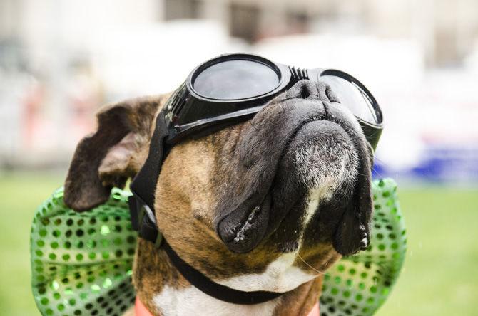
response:
M476 0L0 0L0 313L37 314L31 218L98 107L238 51L345 70L382 106L409 250L378 315L478 315Z

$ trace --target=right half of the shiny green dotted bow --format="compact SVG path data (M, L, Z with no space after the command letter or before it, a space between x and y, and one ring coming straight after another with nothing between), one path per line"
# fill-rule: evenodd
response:
M405 221L397 184L380 179L372 184L374 216L370 246L342 258L324 278L320 315L373 315L385 302L402 269L407 249Z

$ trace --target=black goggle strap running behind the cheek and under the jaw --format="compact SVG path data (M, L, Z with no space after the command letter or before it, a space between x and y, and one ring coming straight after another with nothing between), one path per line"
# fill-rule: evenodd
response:
M158 231L158 226L156 226L156 217L153 210L156 184L158 183L161 165L167 154L164 148L164 140L167 136L168 128L164 120L164 113L161 111L156 117L156 128L153 137L151 137L148 158L130 186L133 195L128 199L128 204L133 229L138 231L141 238L151 241L158 248L161 247L168 255L171 263L189 283L218 300L233 304L253 305L268 302L283 295L283 293L268 291L245 292L215 283L181 259L163 238L161 232Z

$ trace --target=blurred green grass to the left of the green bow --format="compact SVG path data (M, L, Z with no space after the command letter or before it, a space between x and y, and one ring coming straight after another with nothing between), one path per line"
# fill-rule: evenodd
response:
M29 238L36 206L61 186L59 174L0 177L0 314L39 315L30 286Z

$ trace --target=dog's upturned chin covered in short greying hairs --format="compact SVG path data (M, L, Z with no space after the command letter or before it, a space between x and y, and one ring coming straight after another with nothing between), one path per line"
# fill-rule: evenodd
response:
M276 179L282 195L290 188L320 191L321 199L349 197L357 179L360 157L352 136L337 123L318 120L304 125L285 150Z

